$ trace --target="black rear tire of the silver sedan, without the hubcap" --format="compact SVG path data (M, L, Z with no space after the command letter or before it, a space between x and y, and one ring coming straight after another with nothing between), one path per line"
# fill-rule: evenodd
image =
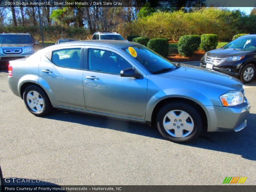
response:
M44 100L44 105L42 107L42 111L40 111L40 112L33 111L33 109L31 109L28 105L27 95L31 91L38 92L41 96L40 99ZM45 94L45 92L40 87L38 87L36 85L29 85L25 89L25 91L23 93L23 100L24 100L25 105L26 105L27 109L29 110L29 112L32 113L35 116L46 116L52 111L52 104L51 104L48 96Z

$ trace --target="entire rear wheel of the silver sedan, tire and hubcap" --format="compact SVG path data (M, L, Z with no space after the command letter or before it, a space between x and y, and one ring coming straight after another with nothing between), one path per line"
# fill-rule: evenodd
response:
M23 93L23 100L29 112L35 116L45 116L52 110L49 98L38 86L28 86Z

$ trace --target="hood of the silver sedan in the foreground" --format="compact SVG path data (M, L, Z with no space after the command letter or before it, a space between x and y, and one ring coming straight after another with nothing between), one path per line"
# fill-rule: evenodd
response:
M180 68L168 73L159 74L159 76L180 80L182 82L187 81L194 82L196 84L204 84L206 86L218 87L227 91L242 91L243 89L243 83L234 77L210 69L204 69L187 64L180 65Z

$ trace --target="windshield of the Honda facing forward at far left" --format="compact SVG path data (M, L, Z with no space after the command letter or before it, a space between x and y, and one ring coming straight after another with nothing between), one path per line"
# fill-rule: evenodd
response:
M5 44L32 44L29 35L0 35L0 43Z

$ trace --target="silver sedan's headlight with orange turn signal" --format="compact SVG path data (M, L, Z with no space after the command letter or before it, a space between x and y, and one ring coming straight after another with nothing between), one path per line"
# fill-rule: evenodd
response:
M244 95L241 91L227 92L220 96L222 105L225 107L231 107L244 103Z

